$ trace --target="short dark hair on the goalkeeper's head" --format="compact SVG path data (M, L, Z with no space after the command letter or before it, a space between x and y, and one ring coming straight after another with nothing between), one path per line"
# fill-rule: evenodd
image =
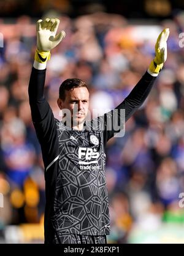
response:
M86 83L79 78L69 78L64 80L59 87L59 98L65 100L65 90L71 90L77 87L86 87L88 89Z

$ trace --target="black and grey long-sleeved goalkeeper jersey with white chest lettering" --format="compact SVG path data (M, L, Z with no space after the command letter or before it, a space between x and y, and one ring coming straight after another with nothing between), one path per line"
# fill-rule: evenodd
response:
M110 231L105 180L105 144L117 132L109 128L113 111L92 121L83 130L72 130L55 119L44 97L45 71L33 68L29 103L45 166L45 243L59 234L105 235ZM144 102L155 78L144 74L125 100L115 108L119 124ZM123 112L122 112L123 113Z

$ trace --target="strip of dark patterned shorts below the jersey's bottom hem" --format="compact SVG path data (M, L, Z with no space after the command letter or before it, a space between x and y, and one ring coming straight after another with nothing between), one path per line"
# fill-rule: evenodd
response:
M107 244L106 236L82 234L55 234L53 244Z

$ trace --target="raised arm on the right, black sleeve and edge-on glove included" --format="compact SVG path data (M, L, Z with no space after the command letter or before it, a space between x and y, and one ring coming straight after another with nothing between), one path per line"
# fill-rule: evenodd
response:
M153 87L156 76L158 76L159 71L163 68L164 62L166 62L168 36L169 28L166 28L159 34L155 44L155 58L150 63L147 72L142 76L134 89L131 90L128 97L126 97L125 100L115 108L115 110L105 114L105 141L109 140L109 138L112 138L115 133L120 131L118 127L121 126L121 129L123 129L124 123L131 118L132 114L134 114L135 111L144 103L151 88ZM121 110L125 110L125 114L123 114L123 111ZM118 119L116 123L113 121L113 115ZM109 119L112 119L109 122L110 126L111 123L113 123L112 129L108 127Z

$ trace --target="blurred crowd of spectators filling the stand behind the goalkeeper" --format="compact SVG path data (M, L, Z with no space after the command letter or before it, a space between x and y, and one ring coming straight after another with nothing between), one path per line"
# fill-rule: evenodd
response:
M90 110L102 114L131 92L154 57L158 34L170 29L167 61L151 94L126 123L125 136L107 145L108 241L130 242L135 226L151 230L162 223L184 223L178 204L184 192L184 45L179 43L184 13L159 25L143 20L139 26L104 12L59 19L66 38L52 50L45 81L45 97L58 119L56 100L64 79L83 79ZM7 225L44 218L44 164L28 101L35 24L28 16L0 21L0 236Z

